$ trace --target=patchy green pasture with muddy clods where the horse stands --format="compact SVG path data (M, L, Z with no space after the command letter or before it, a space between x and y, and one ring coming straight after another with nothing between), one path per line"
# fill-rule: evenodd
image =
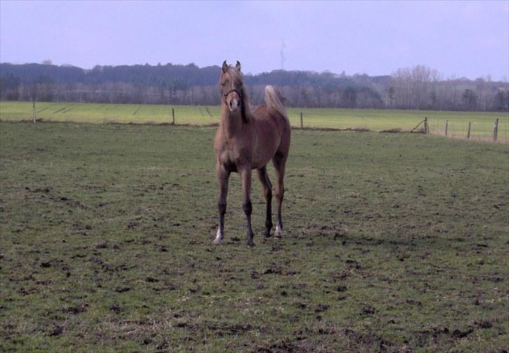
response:
M508 350L508 146L294 130L247 249L214 133L0 122L0 351Z

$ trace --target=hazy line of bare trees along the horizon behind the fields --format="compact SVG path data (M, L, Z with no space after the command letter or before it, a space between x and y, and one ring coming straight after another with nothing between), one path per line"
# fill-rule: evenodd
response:
M76 66L0 63L0 99L45 102L218 105L220 66ZM245 75L250 100L263 103L276 84L292 107L509 111L507 82L490 77L444 80L426 66L392 75L273 70Z

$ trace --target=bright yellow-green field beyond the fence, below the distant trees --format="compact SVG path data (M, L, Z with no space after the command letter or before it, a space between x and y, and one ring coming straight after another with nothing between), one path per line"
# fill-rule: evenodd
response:
M175 123L208 125L220 121L218 106L190 105L120 105L80 103L36 103L37 119L45 121L74 121L87 123L170 123L171 109L175 110ZM417 110L368 110L368 109L308 109L288 108L292 126L308 128L366 128L369 130L411 130L422 121L429 119L432 133L443 135L448 120L447 134L466 136L468 122L471 122L473 140L490 140L493 126L499 118L499 141L509 142L509 114L491 112L428 112ZM0 119L6 121L29 120L33 116L32 103L0 102Z

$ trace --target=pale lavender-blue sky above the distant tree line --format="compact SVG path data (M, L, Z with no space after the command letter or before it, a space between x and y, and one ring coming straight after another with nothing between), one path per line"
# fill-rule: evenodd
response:
M0 1L0 61L509 76L509 0Z

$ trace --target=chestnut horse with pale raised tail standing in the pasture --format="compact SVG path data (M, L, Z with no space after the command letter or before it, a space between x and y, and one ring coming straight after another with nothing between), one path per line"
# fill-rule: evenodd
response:
M257 170L258 179L264 188L266 200L265 236L272 229L272 185L268 179L267 163L272 160L275 167L275 198L278 202L278 223L274 236L281 236L281 204L285 188L285 165L290 147L290 124L285 110L284 98L279 89L265 87L265 105L251 107L243 86L241 63L235 67L226 61L222 65L221 84L221 123L214 142L215 172L220 184L219 227L214 244L220 244L224 232L224 213L227 211L228 180L231 172L237 172L242 181L242 208L247 221L248 246L254 246L251 229L250 200L251 171Z

